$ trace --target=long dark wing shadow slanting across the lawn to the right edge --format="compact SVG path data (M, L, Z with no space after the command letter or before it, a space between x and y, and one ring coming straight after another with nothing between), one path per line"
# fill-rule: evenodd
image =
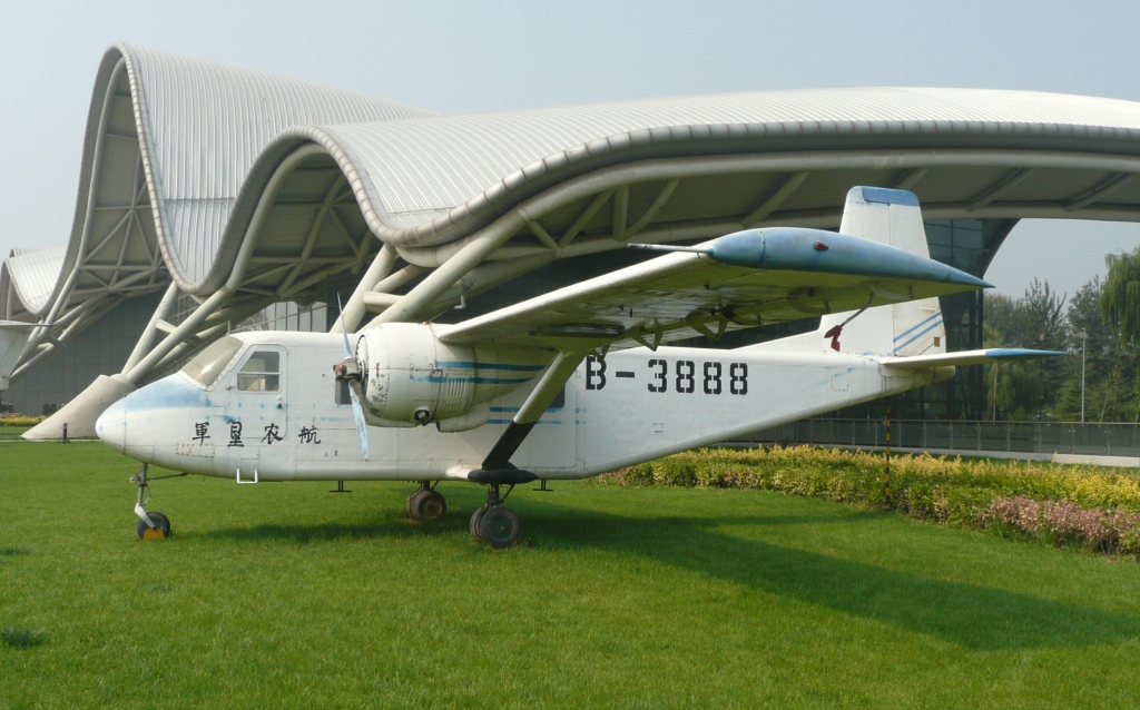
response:
M710 530L785 524L783 516L628 519L540 505L547 515L529 516L531 530L552 541L629 552L974 650L1078 647L1140 637L1140 618L1130 614L931 579ZM865 517L880 516L863 513L825 520ZM929 572L938 573L936 560Z

